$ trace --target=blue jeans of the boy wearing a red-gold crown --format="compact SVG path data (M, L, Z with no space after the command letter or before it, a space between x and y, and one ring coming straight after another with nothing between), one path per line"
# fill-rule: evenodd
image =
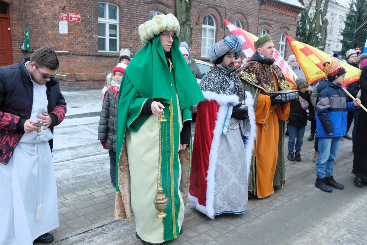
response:
M342 137L319 138L319 151L317 151L316 177L323 179L330 177L334 172L334 160L339 154L339 144Z

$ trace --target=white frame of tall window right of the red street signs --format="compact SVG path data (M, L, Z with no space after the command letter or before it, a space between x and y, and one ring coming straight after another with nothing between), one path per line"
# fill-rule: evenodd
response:
M98 2L98 3L106 4L106 9L105 9L105 17L106 18L98 17L98 24L102 23L102 24L105 24L105 26L106 26L106 36L98 36L98 38L102 37L102 38L106 39L106 50L98 50L98 52L119 53L119 33L120 33L119 6L117 6L116 4L113 4L113 3L108 3L108 2ZM116 7L116 18L117 19L109 19L108 18L108 5L109 4ZM117 35L116 35L116 37L110 37L109 36L109 24L117 25ZM97 32L98 32L98 30L97 30ZM117 50L110 51L110 44L109 44L110 39L116 39L116 42L117 42L116 48L117 48ZM99 47L98 47L98 49L99 49Z

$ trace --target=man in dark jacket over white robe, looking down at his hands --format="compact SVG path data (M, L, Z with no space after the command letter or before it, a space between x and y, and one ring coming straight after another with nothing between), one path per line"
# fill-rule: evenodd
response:
M48 244L59 226L52 145L66 102L58 68L48 47L0 67L0 244Z

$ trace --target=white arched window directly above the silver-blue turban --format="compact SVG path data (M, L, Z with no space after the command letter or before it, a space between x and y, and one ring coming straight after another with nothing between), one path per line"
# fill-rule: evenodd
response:
M201 57L208 57L208 48L215 43L215 21L211 15L206 15L201 31Z

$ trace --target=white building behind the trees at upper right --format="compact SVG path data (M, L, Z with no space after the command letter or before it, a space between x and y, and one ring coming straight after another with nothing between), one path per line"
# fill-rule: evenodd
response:
M310 8L311 16L315 15L315 4L316 1L314 1L313 5ZM324 48L325 53L333 55L334 51L342 50L342 44L339 40L343 40L343 36L341 35L341 33L344 29L344 21L348 12L349 7L345 7L337 3L337 0L329 1L329 6L326 14L328 25L326 47Z

